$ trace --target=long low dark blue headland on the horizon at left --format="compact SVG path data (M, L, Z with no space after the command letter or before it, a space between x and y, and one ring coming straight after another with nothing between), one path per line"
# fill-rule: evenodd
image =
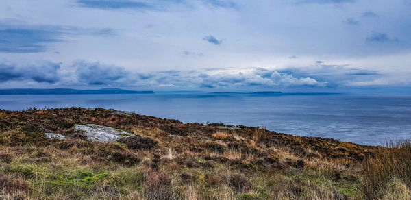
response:
M103 88L100 90L77 90L71 88L55 89L0 89L0 95L86 95L86 94L154 94L153 91L122 90L119 88Z

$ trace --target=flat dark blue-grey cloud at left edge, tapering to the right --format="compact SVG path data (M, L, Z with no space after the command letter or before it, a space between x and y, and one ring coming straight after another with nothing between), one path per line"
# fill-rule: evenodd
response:
M62 42L66 36L113 36L114 29L29 25L15 21L0 21L0 52L36 53L48 50L48 45Z

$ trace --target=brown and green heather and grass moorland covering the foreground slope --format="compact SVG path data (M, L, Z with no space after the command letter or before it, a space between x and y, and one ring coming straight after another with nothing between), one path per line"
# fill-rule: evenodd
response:
M88 123L135 136L88 142L73 129ZM0 199L410 199L409 142L239 128L104 109L0 110Z

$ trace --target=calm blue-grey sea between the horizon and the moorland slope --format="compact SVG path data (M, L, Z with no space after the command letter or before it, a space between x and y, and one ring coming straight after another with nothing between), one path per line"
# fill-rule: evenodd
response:
M266 125L300 136L366 145L411 139L411 96L247 95L157 93L154 95L0 95L0 108L114 108L160 118L230 125Z

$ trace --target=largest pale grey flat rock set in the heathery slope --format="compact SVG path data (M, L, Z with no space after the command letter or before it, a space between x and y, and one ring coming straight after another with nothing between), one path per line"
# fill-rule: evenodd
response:
M74 129L81 131L86 136L86 139L91 142L116 142L121 138L134 135L112 127L95 124L76 125Z

